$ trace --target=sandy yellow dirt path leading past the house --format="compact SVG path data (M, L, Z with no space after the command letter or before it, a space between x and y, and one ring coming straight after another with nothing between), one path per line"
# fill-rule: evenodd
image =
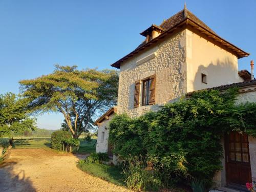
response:
M78 169L76 162L85 157L56 154L43 148L12 150L0 167L0 191L129 191Z

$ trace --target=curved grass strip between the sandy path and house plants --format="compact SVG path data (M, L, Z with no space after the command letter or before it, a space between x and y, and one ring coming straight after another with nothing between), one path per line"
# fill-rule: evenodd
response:
M121 174L122 169L117 166L98 163L84 163L83 160L80 160L78 167L84 172L87 172L90 175L101 178L105 181L109 181L120 186L126 186L123 181L123 175Z

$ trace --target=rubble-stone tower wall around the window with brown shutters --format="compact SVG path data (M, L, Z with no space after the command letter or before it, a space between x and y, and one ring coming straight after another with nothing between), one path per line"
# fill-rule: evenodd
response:
M172 101L186 93L185 31L179 32L148 51L135 56L120 66L117 113L137 117L158 105ZM136 61L152 53L156 57L136 65ZM156 105L134 108L135 81L156 74Z

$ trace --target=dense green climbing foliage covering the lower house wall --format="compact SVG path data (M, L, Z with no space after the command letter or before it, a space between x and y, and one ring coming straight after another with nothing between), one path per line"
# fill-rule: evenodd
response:
M256 136L256 103L236 104L237 89L199 91L138 118L116 115L109 141L123 159L150 159L165 183L211 182L222 169L221 138L231 131Z

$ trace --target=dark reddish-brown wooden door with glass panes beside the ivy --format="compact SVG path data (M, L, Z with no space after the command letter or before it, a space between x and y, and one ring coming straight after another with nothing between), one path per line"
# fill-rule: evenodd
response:
M231 132L226 135L225 141L227 184L245 185L251 182L248 136Z

